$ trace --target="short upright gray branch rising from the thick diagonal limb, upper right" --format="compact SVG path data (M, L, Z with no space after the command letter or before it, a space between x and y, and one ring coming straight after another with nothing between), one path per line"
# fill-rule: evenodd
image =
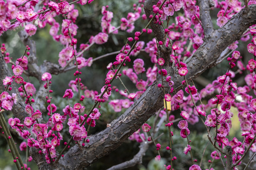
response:
M204 35L209 36L213 32L213 25L210 17L209 0L199 0L200 19L202 22Z

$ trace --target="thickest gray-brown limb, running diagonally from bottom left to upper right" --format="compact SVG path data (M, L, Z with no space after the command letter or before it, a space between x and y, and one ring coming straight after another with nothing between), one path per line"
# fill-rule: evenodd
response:
M152 0L147 1L151 2ZM155 0L155 3L156 1L157 0ZM251 5L248 8L247 12L242 9L238 14L233 16L225 26L219 28L219 30L213 31L212 36L201 45L192 57L187 59L186 63L189 70L189 73L186 75L187 79L189 79L189 77L196 78L206 69L214 67L221 52L231 43L240 39L249 26L256 24L256 5ZM150 8L145 4L146 14L150 14L150 11L147 10L152 10L152 5ZM153 31L156 30L157 32L159 26L151 25L151 28ZM161 34L158 36L158 33L156 33L155 35L158 40L161 39ZM173 81L177 90L183 87L183 77L175 74ZM57 167L58 170L80 170L117 149L128 136L134 133L147 119L154 115L155 111L163 107L164 93L156 86L156 83L157 82L151 85L123 115L112 121L111 127L107 127L98 134L89 136L90 143L86 144L85 147L79 147L78 145L73 146L64 157L55 164L55 167ZM33 157L35 156L37 155L33 154ZM39 169L56 169L55 167L50 168L50 166L51 165L47 163L41 163Z

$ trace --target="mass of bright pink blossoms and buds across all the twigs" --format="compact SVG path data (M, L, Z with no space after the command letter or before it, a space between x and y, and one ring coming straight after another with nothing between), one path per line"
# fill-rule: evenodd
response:
M93 0L80 0L81 5L86 3L91 3ZM170 73L167 72L167 69L162 68L166 63L173 63L173 68L178 70L180 76L186 76L189 72L186 63L184 60L192 55L202 44L204 39L203 29L200 24L200 14L199 7L196 5L196 1L193 0L159 0L159 2L154 5L153 12L156 14L154 19L155 23L158 23L159 26L163 26L163 21L169 20L171 16L174 16L174 12L183 9L184 16L174 17L175 23L170 24L165 28L165 40L164 42L157 42L154 38L152 41L146 43L139 41L142 33L151 34L151 29L143 29L142 32L137 31L134 34L134 37L129 37L128 41L136 41L135 48L131 49L129 44L120 50L120 53L116 56L115 61L111 62L107 68L108 73L105 78L105 85L101 88L100 92L88 90L85 85L81 83L81 78L79 75L82 72L79 69L83 67L90 67L93 59L90 57L85 59L82 57L83 51L86 51L90 48L92 44L103 44L106 43L109 39L109 34L118 34L118 27L112 26L111 21L113 18L113 13L108 10L108 6L101 8L101 27L102 32L91 36L88 44L81 43L79 50L77 49L77 35L78 26L74 24L79 16L79 12L74 8L74 5L69 4L67 1L61 1L56 3L50 1L45 3L42 9L35 11L35 6L38 3L38 0L7 0L7 2L0 0L0 8L3 9L0 12L0 34L7 31L8 29L14 29L18 26L25 26L25 31L29 36L36 34L37 26L34 25L34 21L38 20L38 27L44 28L48 24L51 28L49 34L53 37L56 42L60 42L64 48L59 52L59 65L62 68L69 66L71 61L75 60L73 63L77 70L73 74L77 78L71 80L69 83L70 89L66 89L64 92L63 98L70 100L75 93L83 91L84 95L78 96L79 102L71 105L68 104L63 109L63 115L57 113L57 107L52 102L50 94L53 93L50 90L51 85L51 74L44 73L41 77L41 80L45 82L44 87L47 89L48 96L46 97L47 106L46 110L47 115L50 117L46 123L43 123L42 113L40 110L35 110L33 108L33 99L34 94L36 93L36 88L32 83L28 83L22 77L24 70L27 70L28 59L25 55L17 59L16 65L12 66L13 76L6 76L3 79L3 85L5 85L5 91L0 94L0 107L6 110L11 110L13 105L17 103L17 94L8 93L7 90L11 91L11 85L13 82L21 85L18 88L20 95L24 98L26 103L26 112L29 115L25 118L24 122L21 122L18 118L10 118L9 125L16 129L18 134L27 139L27 143L20 145L21 150L24 150L26 144L29 147L40 148L39 153L44 153L46 161L50 163L56 158L56 147L60 145L60 142L63 140L61 131L64 127L64 121L67 120L67 125L69 126L69 133L73 136L75 141L85 141L87 137L87 130L85 125L89 127L95 127L96 120L100 118L101 113L98 108L93 108L91 113L84 114L85 107L81 104L85 98L91 98L95 103L108 102L114 111L119 112L122 108L128 108L133 104L133 101L138 99L145 91L149 85L152 85L157 74L158 76L164 77L164 81L169 85L170 90L165 93L165 101L170 102L172 110L180 110L181 119L178 122L178 128L180 129L180 134L182 138L188 138L190 135L189 124L195 124L199 121L199 118L203 119L204 125L207 128L213 127L216 128L216 138L214 139L219 147L224 148L225 146L231 146L233 149L233 163L237 162L241 155L245 153L245 148L250 147L250 150L256 152L255 145L255 122L256 122L256 99L253 96L249 95L248 92L252 90L256 93L256 30L251 29L250 33L253 36L252 43L247 45L247 51L254 55L254 59L250 59L246 66L239 60L241 59L239 51L233 51L231 57L227 60L229 61L230 68L238 67L238 73L242 73L244 70L248 70L249 74L245 77L245 82L247 85L239 86L233 82L232 78L235 76L235 73L227 71L226 74L219 76L217 80L213 81L211 84L207 85L201 92L198 92L195 85L187 85L184 91L179 90L178 92L174 91L174 82L172 77L169 76ZM129 12L128 16L121 18L120 29L127 30L128 33L132 32L135 28L134 22L141 16L142 7L144 0L139 0L139 5L134 5L134 13ZM255 3L253 0L249 1L249 4ZM23 5L22 5L23 4ZM162 5L161 5L162 4ZM160 8L161 6L161 8ZM240 11L241 2L237 0L226 0L222 2L215 1L215 7L220 8L220 11L217 15L217 25L222 27L227 21L236 13ZM49 8L49 10L46 10ZM62 24L55 20L55 17L62 15L64 19ZM153 17L152 15L150 16ZM145 15L142 15L143 19L146 19ZM11 19L16 19L14 22L11 22ZM192 29L192 27L194 29ZM242 38L243 41L246 41L250 38L249 32L244 35ZM172 41L175 41L174 43ZM192 50L187 47L187 42L192 43ZM234 42L229 46L229 49L236 50L238 42ZM165 47L172 47L172 53L170 58L167 61L163 58L159 58L157 46L164 45ZM10 63L11 59L9 58L9 53L6 53L5 45L1 45L1 53L4 56L6 63ZM29 50L29 47L27 47ZM133 59L132 56L137 56L140 51L144 50L151 57L151 62L154 63L153 67L146 68L144 60L141 58ZM25 51L26 52L26 51ZM26 55L29 56L29 52L26 52ZM122 66L126 66L125 62L133 62L133 68L125 68L120 71ZM167 66L168 67L168 66ZM128 90L119 90L115 86L111 86L111 82L114 78L120 78L125 75L136 85L137 92L128 93ZM141 75L146 74L146 79L139 79ZM186 81L183 81L183 84L186 84ZM164 87L162 82L157 85L159 88ZM124 96L125 99L116 99L109 100L111 93L119 92L120 95ZM208 102L204 104L198 104L201 99L209 97L214 92L217 92L216 98L211 98ZM173 96L170 93L175 93ZM239 97L242 98L241 101ZM196 104L195 104L196 103ZM71 107L72 106L72 107ZM218 107L219 106L219 107ZM232 125L231 118L234 116L234 113L231 111L231 107L236 107L238 109L238 118L240 121L240 127L242 130L242 135L244 137L244 143L238 141L234 137L231 141L228 139L230 128ZM166 110L165 110L166 111ZM159 117L165 115L164 110L159 112ZM167 110L168 112L168 110ZM81 115L82 114L82 115ZM169 120L169 121L168 121ZM171 115L167 119L166 127L170 129L173 126L171 122L174 120L174 116ZM40 122L40 123L39 123ZM81 123L83 122L83 123ZM87 126L86 125L86 126ZM148 124L143 124L142 130L144 132L149 132L151 127ZM173 136L173 132L170 133ZM132 136L129 137L130 140L136 140L141 143L146 140L144 133L140 133L140 129L137 130ZM148 137L148 141L151 141L151 137ZM86 140L86 142L89 142ZM66 143L65 143L66 144ZM84 146L84 145L83 145ZM160 150L161 144L156 144L156 150ZM168 148L168 149L167 149ZM187 154L191 151L191 145L188 143L187 147L184 148L184 154ZM169 146L166 147L166 150L170 151ZM219 159L219 154L216 152L211 153L211 157L214 159ZM157 160L160 159L158 155ZM174 161L176 157L172 158ZM171 169L171 165L166 166L166 169ZM192 165L189 170L201 170L198 165Z

